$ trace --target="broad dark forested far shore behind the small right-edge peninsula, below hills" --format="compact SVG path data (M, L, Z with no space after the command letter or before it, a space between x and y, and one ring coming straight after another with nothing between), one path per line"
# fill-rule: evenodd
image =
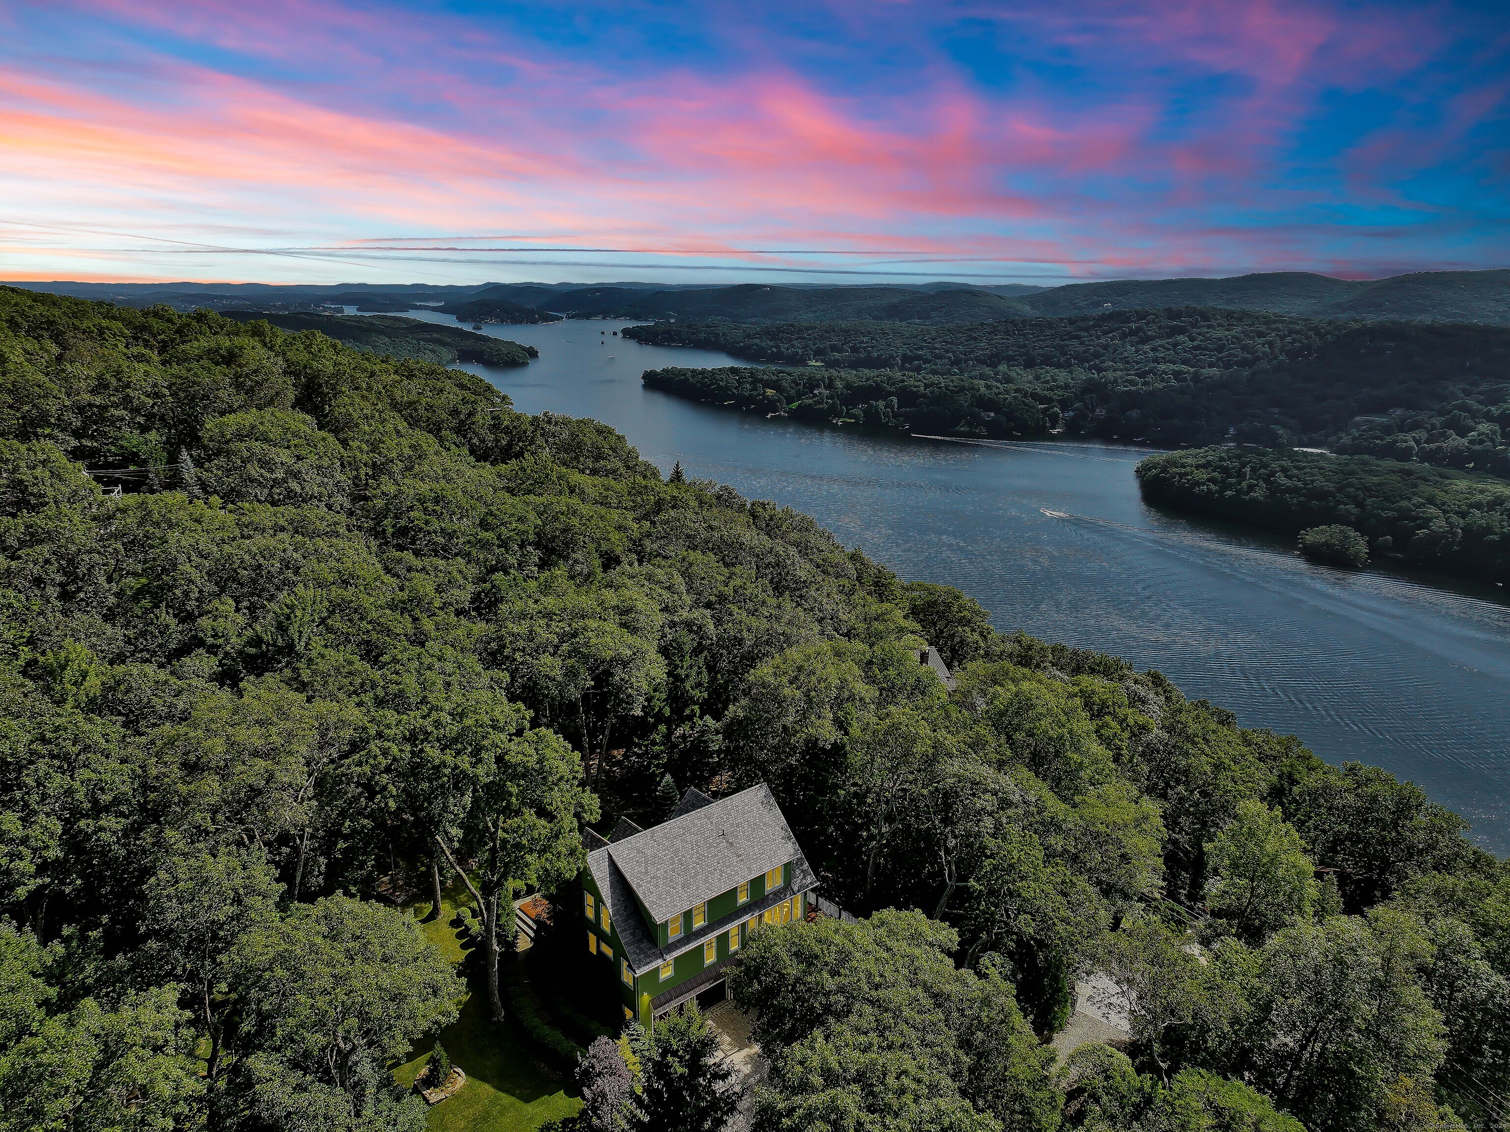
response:
M1169 446L1377 443L1397 459L1510 475L1501 437L1510 329L1170 308L980 326L676 322L625 334L805 367L760 388L725 370L675 378L672 391L702 401L763 407L770 388L790 405L827 390L824 373L838 369L841 390L824 393L832 417L858 419L850 410L895 396L932 417L957 411L953 428L935 422L936 431L986 435L982 414L1001 411L992 401L1031 401L1042 429L1071 434Z

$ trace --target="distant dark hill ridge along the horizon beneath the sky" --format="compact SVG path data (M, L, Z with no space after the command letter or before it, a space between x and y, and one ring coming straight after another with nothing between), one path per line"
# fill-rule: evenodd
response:
M1312 272L1262 272L1229 278L1110 280L1059 287L1001 284L977 287L939 280L920 284L728 287L651 283L492 283L476 287L424 284L89 284L29 283L79 298L180 310L329 310L400 313L438 308L468 319L491 311L522 322L525 311L568 317L728 319L731 322L917 322L924 325L1065 317L1107 310L1214 307L1321 319L1403 319L1510 325L1510 269L1413 272L1385 280L1338 280ZM489 304L479 307L477 304Z

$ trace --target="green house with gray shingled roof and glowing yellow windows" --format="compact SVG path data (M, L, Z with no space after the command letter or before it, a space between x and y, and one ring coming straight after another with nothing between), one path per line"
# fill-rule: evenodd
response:
M692 997L722 999L749 934L805 916L815 887L770 787L687 790L660 825L587 831L584 946L615 973L624 1017L649 1026Z

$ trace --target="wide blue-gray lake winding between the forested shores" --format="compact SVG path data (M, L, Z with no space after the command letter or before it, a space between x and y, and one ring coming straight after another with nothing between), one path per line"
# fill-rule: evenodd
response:
M1481 845L1510 851L1502 589L1332 570L1287 540L1155 511L1132 476L1146 447L927 441L681 401L640 373L744 363L604 332L627 325L488 326L539 360L465 369L522 411L612 425L663 470L680 459L690 476L806 511L904 579L959 586L1003 630L1123 656L1246 727L1410 778Z

